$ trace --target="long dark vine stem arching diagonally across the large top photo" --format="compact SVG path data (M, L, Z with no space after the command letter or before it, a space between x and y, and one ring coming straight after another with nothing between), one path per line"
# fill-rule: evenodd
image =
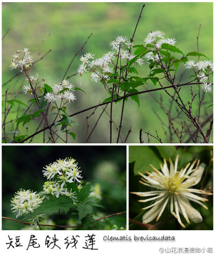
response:
M187 83L187 84L181 84L181 85L175 85L175 86L176 86L176 87L181 87L181 86L186 86L186 85L188 86L188 85L198 85L198 84L202 84L202 83L190 82L190 83ZM128 97L131 97L131 96L133 96L133 95L144 94L144 93L149 93L149 92L156 92L156 91L161 91L161 90L163 90L163 89L168 89L168 88L173 88L173 86L170 85L170 86L166 86L166 87L161 87L161 88L156 88L156 89L149 89L149 90L142 91L142 92L137 92L137 93L128 94L128 95L125 95L125 96L121 96L120 98L118 98L118 99L116 99L116 100L113 100L113 102L117 102L117 101L119 101L119 100L122 100L122 99L125 99L125 98L128 98ZM107 105L107 104L109 104L109 103L111 103L111 101L107 101L107 102L104 102L104 103L101 103L101 104L98 104L98 105L95 105L95 106L92 106L92 107L89 107L89 108L85 108L85 109L80 110L80 111L78 111L78 112L76 112L76 113L74 113L74 114L71 114L71 115L69 115L69 116L72 117L72 116L75 116L75 115L84 113L84 112L86 112L86 111L88 111L88 110L90 110L90 109L93 109L93 108L95 108L95 107L104 106L104 105ZM61 122L61 121L62 121L62 120L59 120L58 122ZM52 126L54 126L54 123L49 124L49 127L52 127ZM41 133L41 132L44 132L44 130L49 129L49 127L46 126L45 128L42 128L41 130L38 130L38 132L36 132L36 133L34 133L34 134L28 136L26 139L22 140L22 141L19 142L19 143L23 143L23 142L25 142L26 140L30 139L31 137L33 137L33 136L35 136L35 135L37 135L37 134L39 134L39 133Z

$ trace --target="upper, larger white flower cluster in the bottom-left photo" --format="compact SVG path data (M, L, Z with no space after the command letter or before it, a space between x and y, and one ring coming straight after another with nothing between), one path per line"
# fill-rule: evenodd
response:
M75 193L67 189L67 182L80 182L81 171L77 167L77 163L73 158L65 158L64 160L57 160L54 163L46 165L42 171L44 176L52 181L45 182L44 192L45 194L52 194L59 197L59 195L69 196L71 199L75 198Z

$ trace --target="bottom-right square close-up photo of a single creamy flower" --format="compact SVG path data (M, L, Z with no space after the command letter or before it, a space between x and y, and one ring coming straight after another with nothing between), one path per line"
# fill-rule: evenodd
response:
M213 230L213 146L129 146L129 230Z

